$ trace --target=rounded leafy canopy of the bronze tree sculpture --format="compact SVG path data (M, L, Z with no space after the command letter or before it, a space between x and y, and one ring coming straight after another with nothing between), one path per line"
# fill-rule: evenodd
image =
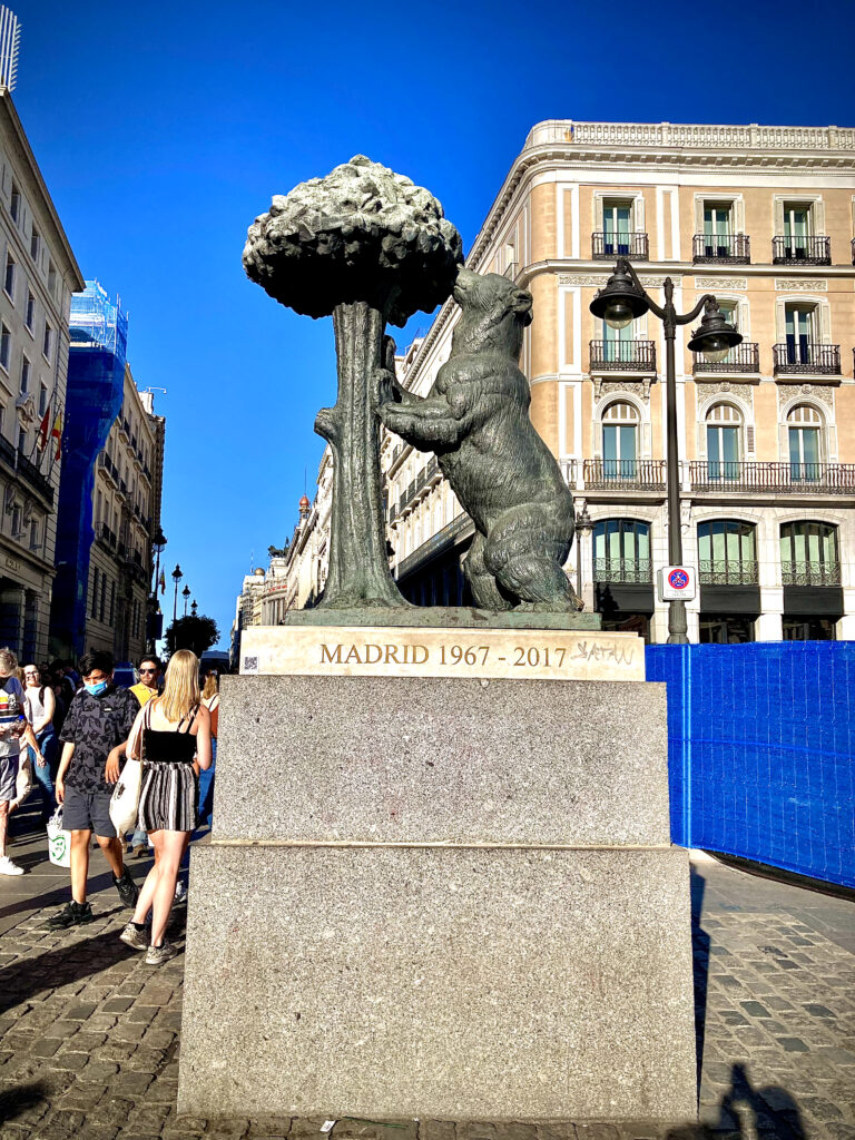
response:
M441 304L462 261L437 198L364 155L276 195L243 254L247 276L296 312L367 300L394 325Z

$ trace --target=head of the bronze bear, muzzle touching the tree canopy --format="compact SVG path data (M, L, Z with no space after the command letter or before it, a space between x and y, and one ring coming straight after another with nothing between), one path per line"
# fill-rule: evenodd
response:
M461 269L451 294L461 307L451 352L500 351L519 359L522 331L531 324L531 294L502 274Z

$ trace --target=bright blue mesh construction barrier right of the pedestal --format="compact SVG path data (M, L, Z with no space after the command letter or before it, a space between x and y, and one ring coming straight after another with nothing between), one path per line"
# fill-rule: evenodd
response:
M855 887L855 642L649 645L671 839Z

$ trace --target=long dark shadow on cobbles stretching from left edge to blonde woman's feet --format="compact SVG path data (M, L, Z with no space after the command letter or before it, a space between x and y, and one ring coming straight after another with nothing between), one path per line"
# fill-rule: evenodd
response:
M99 914L98 921L108 917ZM58 988L80 982L135 954L136 951L119 940L117 930L105 930L72 946L19 959L0 970L0 1013L19 1005L46 986Z

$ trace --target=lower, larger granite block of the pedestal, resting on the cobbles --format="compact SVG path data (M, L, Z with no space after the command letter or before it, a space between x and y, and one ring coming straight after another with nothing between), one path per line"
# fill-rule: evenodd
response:
M687 853L194 850L179 1112L690 1119Z

